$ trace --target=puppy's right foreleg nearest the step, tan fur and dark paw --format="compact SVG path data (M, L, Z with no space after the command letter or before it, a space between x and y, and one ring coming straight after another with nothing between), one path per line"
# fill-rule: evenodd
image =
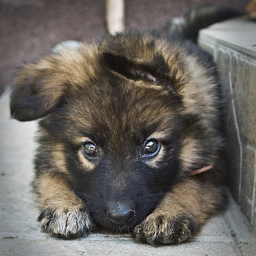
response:
M134 228L138 241L180 243L194 236L223 203L223 192L189 177L168 192L152 214Z

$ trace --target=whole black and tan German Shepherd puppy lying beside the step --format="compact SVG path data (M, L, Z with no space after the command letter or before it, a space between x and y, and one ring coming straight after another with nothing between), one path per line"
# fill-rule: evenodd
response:
M20 67L10 109L40 118L34 186L45 231L73 238L97 225L180 243L223 208L218 82L192 41L232 16L194 10L166 38L120 33Z

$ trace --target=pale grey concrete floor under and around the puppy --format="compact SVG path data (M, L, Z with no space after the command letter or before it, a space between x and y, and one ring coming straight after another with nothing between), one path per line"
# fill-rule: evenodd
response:
M36 122L10 119L9 92L0 98L0 255L256 255L250 224L232 200L228 210L208 221L189 243L154 247L134 243L129 234L89 234L75 240L40 231L31 191Z

